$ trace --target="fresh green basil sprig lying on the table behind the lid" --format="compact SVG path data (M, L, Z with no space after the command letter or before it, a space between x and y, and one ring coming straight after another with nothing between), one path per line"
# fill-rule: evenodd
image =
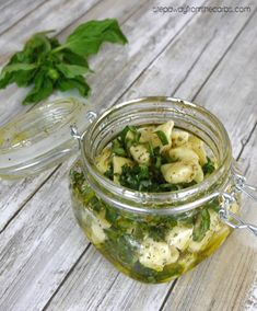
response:
M96 54L104 42L126 44L117 20L90 21L79 25L63 44L49 37L50 32L34 34L23 50L14 54L0 74L0 89L11 83L33 85L23 104L38 103L54 90L77 89L87 96L90 85L84 74L92 72L87 57Z

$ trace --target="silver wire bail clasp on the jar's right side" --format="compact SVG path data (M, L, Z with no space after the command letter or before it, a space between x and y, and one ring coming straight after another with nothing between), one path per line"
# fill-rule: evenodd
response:
M257 188L252 186L252 185L246 184L245 176L240 175L235 172L233 172L233 173L234 173L233 178L234 178L234 182L235 182L235 188L232 192L232 194L227 194L227 193L222 194L223 203L222 203L222 208L219 211L220 218L224 223L226 223L231 228L233 228L233 229L247 229L248 231L250 231L252 233L254 233L257 237L257 227L256 226L243 221L240 217L237 217L235 214L230 211L231 204L233 204L235 201L234 195L236 193L245 193L252 199L257 200L257 196L253 193L253 192L256 192Z

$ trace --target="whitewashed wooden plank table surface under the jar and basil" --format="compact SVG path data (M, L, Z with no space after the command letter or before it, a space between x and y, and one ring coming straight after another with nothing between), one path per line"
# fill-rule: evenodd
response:
M189 3L190 2L190 3ZM157 7L247 7L244 12L154 12ZM92 107L144 95L191 100L225 125L234 158L257 184L257 13L255 0L1 0L0 62L31 34L116 18L127 46L106 44L90 60ZM0 124L27 108L26 90L0 92ZM54 95L51 97L55 97ZM257 310L257 240L234 232L179 279L144 285L118 273L72 215L68 171L74 159L37 176L0 181L0 310ZM256 203L244 197L257 223Z

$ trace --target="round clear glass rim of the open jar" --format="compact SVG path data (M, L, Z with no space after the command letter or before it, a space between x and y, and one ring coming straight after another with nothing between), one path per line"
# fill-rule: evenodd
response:
M125 107L132 104L141 104L141 103L153 103L157 102L162 106L162 103L168 102L168 104L179 104L190 110L197 110L198 113L208 117L211 120L215 128L221 134L223 142L225 145L224 156L221 159L218 169L205 177L205 180L196 185L192 185L187 188L183 188L179 191L173 192L162 192L162 193L147 193L133 191L121 185L115 184L113 181L104 176L95 166L94 159L91 157L90 148L84 148L87 146L91 140L91 135L100 126L100 124L108 117L115 111L121 111ZM96 192L96 194L107 200L109 204L113 204L119 209L132 212L140 214L177 214L186 210L194 209L202 204L202 201L210 200L212 197L219 196L220 192L213 191L211 195L206 194L203 197L200 197L199 194L205 194L208 188L214 185L222 176L227 174L231 171L232 166L232 148L229 135L222 125L222 123L211 112L206 110L205 107L191 103L186 100L168 97L168 96L148 96L140 97L136 100L126 101L119 104L116 104L104 113L102 113L93 123L90 129L83 133L81 136L81 141L83 148L81 148L82 153L82 166L84 169L85 177L89 181L92 188ZM221 185L221 188L225 187L224 183ZM101 189L102 188L102 189ZM221 191L221 188L219 191ZM117 199L117 197L122 197L122 203ZM188 199L191 200L188 203ZM165 207L161 207L165 205ZM147 207L148 206L148 207ZM150 207L151 206L151 207ZM156 206L159 206L156 208Z

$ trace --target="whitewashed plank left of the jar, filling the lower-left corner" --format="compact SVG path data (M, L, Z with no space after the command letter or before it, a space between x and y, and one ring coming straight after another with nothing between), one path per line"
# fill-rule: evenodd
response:
M0 310L40 310L86 246L70 208L69 164L1 234Z

